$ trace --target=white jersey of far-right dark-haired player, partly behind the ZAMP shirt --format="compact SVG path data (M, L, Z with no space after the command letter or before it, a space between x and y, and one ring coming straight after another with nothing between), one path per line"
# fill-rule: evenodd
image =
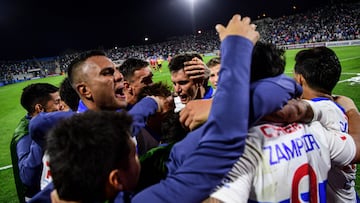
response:
M329 99L315 98L309 102L314 111L314 120L320 119L326 128L348 132L348 119L342 107ZM324 114L322 116L319 114ZM327 202L356 202L356 165L331 167L327 184Z

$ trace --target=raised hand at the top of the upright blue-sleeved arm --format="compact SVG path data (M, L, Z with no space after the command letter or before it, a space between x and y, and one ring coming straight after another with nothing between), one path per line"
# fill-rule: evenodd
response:
M241 19L239 14L234 15L226 27L221 24L217 24L215 29L219 33L221 41L223 41L227 36L237 35L245 37L255 44L260 38L259 32L255 30L256 25L250 24L250 18L244 17Z

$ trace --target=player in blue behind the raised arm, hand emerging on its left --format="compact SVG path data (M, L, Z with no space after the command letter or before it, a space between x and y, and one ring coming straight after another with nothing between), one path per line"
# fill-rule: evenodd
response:
M302 93L300 85L284 74L284 53L284 50L268 43L255 44L251 60L252 93L249 126L262 116L280 110L289 99L298 97ZM278 100L273 98L274 93ZM190 129L197 128L207 120L211 102L211 100L190 101L180 112L180 121Z

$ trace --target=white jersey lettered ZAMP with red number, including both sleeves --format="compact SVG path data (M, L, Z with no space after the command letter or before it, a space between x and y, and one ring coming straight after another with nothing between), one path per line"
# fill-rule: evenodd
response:
M244 154L211 195L224 202L325 202L328 172L355 157L348 134L320 122L249 130Z

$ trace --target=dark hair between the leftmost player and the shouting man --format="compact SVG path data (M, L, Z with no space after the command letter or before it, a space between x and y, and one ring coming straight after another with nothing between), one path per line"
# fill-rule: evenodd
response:
M72 111L77 111L80 97L72 87L68 77L60 84L59 88L61 99L70 107Z

